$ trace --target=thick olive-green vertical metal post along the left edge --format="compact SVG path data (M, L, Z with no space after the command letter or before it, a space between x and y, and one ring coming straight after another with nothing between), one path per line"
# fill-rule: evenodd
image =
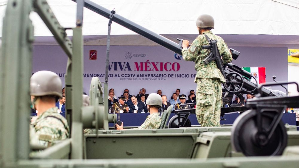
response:
M31 55L31 0L7 2L3 18L0 78L0 166L28 159ZM24 15L28 13L28 15ZM12 164L13 165L13 164Z

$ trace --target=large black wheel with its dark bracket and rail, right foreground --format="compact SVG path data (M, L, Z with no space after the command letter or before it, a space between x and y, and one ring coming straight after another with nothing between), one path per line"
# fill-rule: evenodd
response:
M256 98L248 100L251 110L242 113L232 128L231 142L236 151L246 156L283 153L287 145L287 133L281 118L287 107L299 107L299 96L261 97L263 86L283 84L296 84L299 93L296 82L275 82L261 84Z

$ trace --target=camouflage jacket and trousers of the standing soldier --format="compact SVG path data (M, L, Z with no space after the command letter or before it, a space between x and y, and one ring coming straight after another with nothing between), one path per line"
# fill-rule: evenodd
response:
M210 39L217 40L219 53L222 56L224 64L232 61L231 53L224 40L213 34L211 31L205 31ZM217 68L216 62L211 61L205 64L205 59L210 50L202 49L203 45L209 45L204 35L199 35L190 45L182 50L182 55L186 61L195 62L196 78L196 117L202 127L220 126L220 107L222 106L222 88L221 82L225 82L223 75Z

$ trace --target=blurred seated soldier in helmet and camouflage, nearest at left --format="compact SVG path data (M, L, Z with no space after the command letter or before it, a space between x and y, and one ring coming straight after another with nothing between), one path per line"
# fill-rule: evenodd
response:
M36 119L30 124L31 144L50 147L55 141L68 138L68 122L57 113L55 105L62 98L61 87L61 80L54 72L38 71L31 76L32 105L38 111Z

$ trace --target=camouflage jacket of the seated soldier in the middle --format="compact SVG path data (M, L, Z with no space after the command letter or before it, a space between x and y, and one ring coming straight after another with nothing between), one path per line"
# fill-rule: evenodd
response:
M147 116L147 119L138 128L133 128L131 130L144 130L144 129L158 129L161 125L160 113L156 112Z

